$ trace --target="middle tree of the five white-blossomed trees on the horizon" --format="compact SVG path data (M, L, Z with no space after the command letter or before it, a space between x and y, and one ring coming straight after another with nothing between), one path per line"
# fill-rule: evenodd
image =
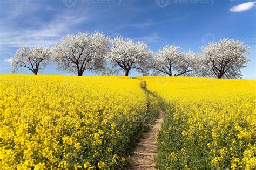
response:
M146 43L133 42L132 39L123 37L116 37L111 42L112 48L107 53L106 60L113 63L115 67L120 67L119 70L124 70L125 76L128 76L132 69L144 73L146 61L152 55Z

